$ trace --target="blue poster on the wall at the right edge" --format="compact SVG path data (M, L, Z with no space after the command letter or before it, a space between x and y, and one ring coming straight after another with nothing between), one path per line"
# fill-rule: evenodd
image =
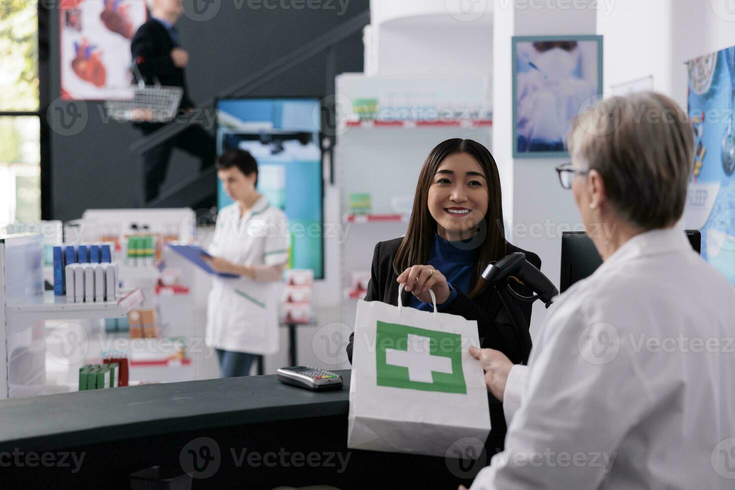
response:
M702 256L735 284L735 47L687 62L695 161L684 226Z

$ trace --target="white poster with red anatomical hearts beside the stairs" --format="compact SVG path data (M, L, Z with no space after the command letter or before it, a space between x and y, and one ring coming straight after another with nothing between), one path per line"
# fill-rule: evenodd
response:
M145 0L60 1L62 98L125 98L130 42L146 17Z

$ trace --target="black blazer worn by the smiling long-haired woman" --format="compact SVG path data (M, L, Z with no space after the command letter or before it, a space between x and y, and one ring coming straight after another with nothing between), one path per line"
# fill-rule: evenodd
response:
M387 242L379 242L375 246L373 253L373 268L370 271L370 283L368 284L368 294L365 300L382 301L393 306L398 306L398 283L395 281L398 275L393 270L393 259L401 246L403 238L396 238ZM537 269L541 269L541 259L535 253L514 247L506 242L506 254L514 252L523 252L526 254L526 260ZM502 257L501 257L502 258ZM513 289L520 295L530 296L531 290L526 287L514 286ZM402 302L408 304L411 298L411 292L404 291L401 296ZM531 303L518 302L526 322L531 325ZM462 292L457 290L457 298L442 313L458 314L467 320L476 320L478 333L480 336L480 345L484 348L492 348L500 350L508 358L517 364L521 361L520 346L513 334L512 322L508 314L506 314L501 303L501 298L494 288L487 288L475 298L467 298ZM350 335L350 342L347 345L347 356L352 362L352 341L354 334Z

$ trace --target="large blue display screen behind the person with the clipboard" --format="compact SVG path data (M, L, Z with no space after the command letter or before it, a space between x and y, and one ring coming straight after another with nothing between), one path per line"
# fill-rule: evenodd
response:
M249 151L258 162L258 192L289 221L290 268L324 278L320 102L316 98L218 101L218 153ZM218 181L218 206L232 203Z

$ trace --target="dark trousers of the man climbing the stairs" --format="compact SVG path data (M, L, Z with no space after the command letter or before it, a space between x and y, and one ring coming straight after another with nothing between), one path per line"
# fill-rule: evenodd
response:
M162 127L162 124L143 124L140 129L148 136ZM171 159L173 148L180 148L193 156L197 156L199 170L204 170L215 164L217 149L215 139L204 131L201 126L190 125L187 129L176 134L169 140L165 140L154 146L143 154L143 176L146 181L145 199L146 203L159 195L161 184L166 178L168 160ZM195 203L192 203L194 205Z

